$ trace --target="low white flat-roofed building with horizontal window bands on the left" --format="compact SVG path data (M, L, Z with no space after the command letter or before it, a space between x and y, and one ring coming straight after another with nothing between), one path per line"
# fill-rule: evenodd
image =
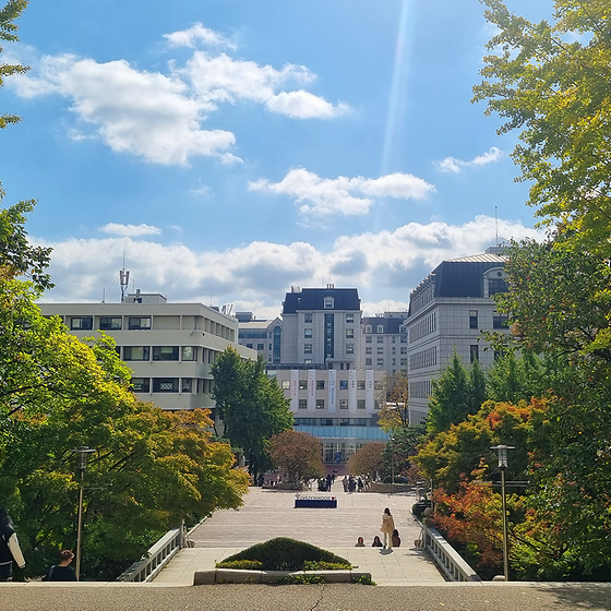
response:
M256 351L239 346L238 320L201 303L168 303L159 293L129 295L122 303L39 303L83 338L97 330L111 336L133 370L137 396L163 409L214 408L211 366L228 346L247 359Z

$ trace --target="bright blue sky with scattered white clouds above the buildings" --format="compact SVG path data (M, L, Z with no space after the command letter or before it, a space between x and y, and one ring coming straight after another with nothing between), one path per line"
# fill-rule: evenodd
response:
M33 0L19 23L0 180L38 200L45 300L118 300L124 255L175 302L273 316L331 281L373 314L493 244L495 206L501 238L536 235L517 134L470 103L477 0Z

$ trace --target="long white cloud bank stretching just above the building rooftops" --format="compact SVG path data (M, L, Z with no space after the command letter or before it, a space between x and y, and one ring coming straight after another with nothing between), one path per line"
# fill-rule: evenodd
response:
M501 235L522 239L540 235L519 223L500 220ZM195 251L129 236L101 239L35 240L53 248L51 275L56 288L46 300L95 300L116 284L125 265L145 291L170 301L239 303L261 314L278 310L291 285L316 287L328 271L337 287L357 287L368 311L402 310L409 291L441 261L483 252L494 243L495 220L478 216L464 225L410 223L394 231L342 236L326 250L307 242L254 241L225 251ZM118 299L119 296L117 295ZM107 301L112 295L107 293Z

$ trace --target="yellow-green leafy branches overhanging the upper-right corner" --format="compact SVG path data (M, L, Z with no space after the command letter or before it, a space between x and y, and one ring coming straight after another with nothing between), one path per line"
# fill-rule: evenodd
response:
M474 100L522 130L513 153L529 204L546 223L576 229L583 250L609 256L611 229L611 15L607 0L555 0L554 21L530 23L483 0L498 28Z

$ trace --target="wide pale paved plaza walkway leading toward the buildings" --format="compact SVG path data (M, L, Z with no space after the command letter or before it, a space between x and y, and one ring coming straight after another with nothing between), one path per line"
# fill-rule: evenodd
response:
M240 510L216 512L199 526L190 536L195 547L180 550L155 584L191 585L195 571L214 568L215 562L274 537L291 537L332 551L371 573L379 585L444 582L427 553L414 546L420 527L411 516L412 494L345 493L340 481L331 492L307 494L335 496L337 508L293 508L293 492L251 488ZM370 547L373 537L381 535L385 507L402 538L402 546L392 551ZM366 548L355 548L358 537L364 538Z

